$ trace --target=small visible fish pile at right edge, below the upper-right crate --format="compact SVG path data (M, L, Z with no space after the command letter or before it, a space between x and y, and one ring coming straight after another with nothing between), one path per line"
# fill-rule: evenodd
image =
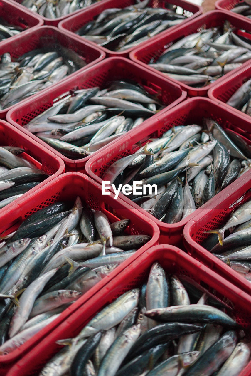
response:
M240 110L248 116L251 115L251 79L243 83L239 89L228 99L227 105Z

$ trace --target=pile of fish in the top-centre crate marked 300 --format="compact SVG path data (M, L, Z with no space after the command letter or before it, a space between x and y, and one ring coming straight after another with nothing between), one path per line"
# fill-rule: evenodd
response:
M126 8L108 8L76 31L89 41L112 51L124 51L147 41L186 17L174 10L147 7L144 0Z

